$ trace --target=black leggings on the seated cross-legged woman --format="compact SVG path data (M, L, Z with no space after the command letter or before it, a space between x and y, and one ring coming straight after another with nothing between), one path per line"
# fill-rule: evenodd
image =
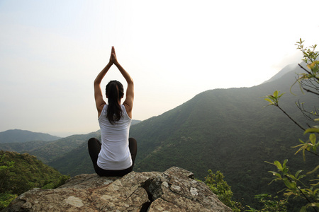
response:
M128 148L130 148L130 155L132 157L133 164L131 167L128 167L125 170L103 170L101 169L101 167L99 167L99 165L97 165L97 159L101 151L101 142L98 139L95 139L95 138L89 139L88 148L89 148L89 154L93 162L93 166L94 166L94 170L96 174L98 174L101 177L113 177L113 176L122 177L132 172L133 170L136 153L138 152L138 143L133 138L128 139Z

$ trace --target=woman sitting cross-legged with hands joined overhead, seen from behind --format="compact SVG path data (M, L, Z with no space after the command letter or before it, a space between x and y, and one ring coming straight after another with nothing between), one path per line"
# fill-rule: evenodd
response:
M121 105L121 99L124 95L123 86L118 81L108 83L106 86L108 104L103 100L101 81L113 64L118 67L128 83L123 105ZM118 63L114 47L111 50L110 61L94 81L94 98L102 140L100 142L91 138L88 141L89 154L94 170L100 176L126 175L133 170L138 149L135 139L128 138L130 123L132 122L134 83L128 72Z

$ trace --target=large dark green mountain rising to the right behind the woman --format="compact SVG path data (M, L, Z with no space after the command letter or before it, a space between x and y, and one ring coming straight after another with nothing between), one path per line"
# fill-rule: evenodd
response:
M301 100L312 108L318 100L308 93L302 95L298 85L292 88L296 96L290 93L295 73L303 72L291 68L259 86L207 90L173 110L131 126L130 136L138 141L135 171L162 172L178 166L203 179L208 169L220 170L236 201L248 205L255 194L274 193L281 185L268 185L272 175L267 171L274 167L264 161L288 158L295 172L301 165L307 168L317 162L312 155L307 155L307 163L301 155L294 155L296 149L291 146L298 145L299 138L305 139L303 131L277 108L264 107L268 103L261 98L274 90L285 92L279 104L306 127L294 102ZM86 143L50 165L64 174L93 172Z

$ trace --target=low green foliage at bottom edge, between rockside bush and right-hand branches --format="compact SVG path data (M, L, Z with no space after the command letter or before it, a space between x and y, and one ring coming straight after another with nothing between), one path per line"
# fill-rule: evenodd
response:
M260 203L263 204L263 207L260 211L267 211L267 212L286 212L286 200L278 200L278 196L272 196L270 194L257 194L254 196L255 199L258 199ZM259 212L259 210L254 209L250 206L247 206L248 209L245 211L249 212Z

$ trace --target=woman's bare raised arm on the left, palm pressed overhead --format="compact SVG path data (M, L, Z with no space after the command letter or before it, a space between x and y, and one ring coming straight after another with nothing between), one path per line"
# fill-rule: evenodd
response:
M106 105L106 102L104 102L103 100L103 94L101 90L101 81L106 75L106 73L108 72L108 69L110 69L111 66L113 65L112 53L113 53L113 47L112 47L110 61L104 67L104 69L102 69L102 71L98 74L98 76L96 76L94 80L94 98L95 98L96 109L98 111L98 117L100 117L103 107L104 105Z

